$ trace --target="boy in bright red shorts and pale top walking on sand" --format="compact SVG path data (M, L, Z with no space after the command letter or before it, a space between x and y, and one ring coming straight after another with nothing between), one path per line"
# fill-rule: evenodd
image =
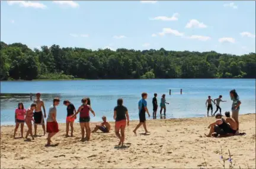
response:
M51 138L59 132L59 126L57 124L57 109L56 107L59 105L60 99L54 98L53 99L53 105L49 108L48 118L47 118L47 124L46 124L46 131L48 133L47 137L47 144L46 146L50 146L50 143L52 142ZM57 144L55 144L57 145Z

